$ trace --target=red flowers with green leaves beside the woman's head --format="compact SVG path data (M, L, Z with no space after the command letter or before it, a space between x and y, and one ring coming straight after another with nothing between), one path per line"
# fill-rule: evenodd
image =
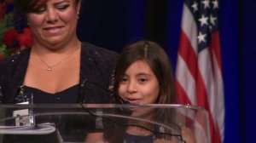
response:
M0 0L0 60L33 44L30 28L16 24L14 14L12 0Z

